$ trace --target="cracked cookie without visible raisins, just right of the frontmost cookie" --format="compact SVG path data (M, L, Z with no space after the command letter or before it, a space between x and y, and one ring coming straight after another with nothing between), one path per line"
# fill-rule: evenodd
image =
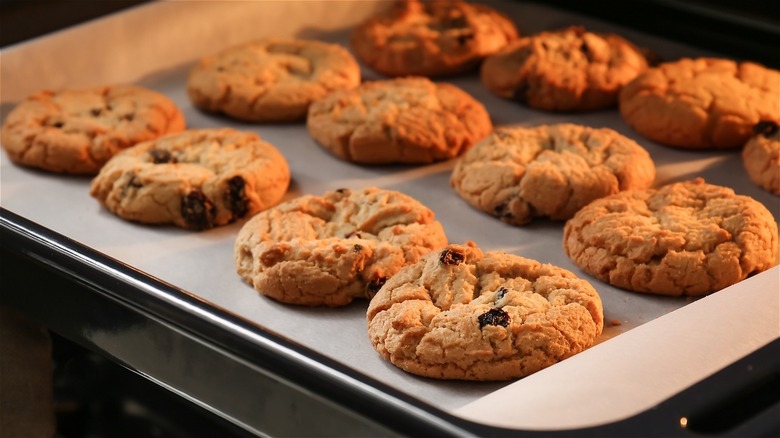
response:
M777 223L760 202L701 178L593 201L566 222L564 249L613 286L707 295L769 269Z

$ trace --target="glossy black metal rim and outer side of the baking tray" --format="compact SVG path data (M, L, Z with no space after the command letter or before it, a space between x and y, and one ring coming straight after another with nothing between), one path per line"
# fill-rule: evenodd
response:
M780 431L772 415L780 411L780 393L766 390L780 374L778 340L625 421L572 431L518 431L465 421L420 403L5 209L0 209L0 257L0 305L24 312L247 433L738 437ZM269 403L276 406L271 416L263 411ZM295 421L296 412L303 411L301 418L317 412L331 423Z

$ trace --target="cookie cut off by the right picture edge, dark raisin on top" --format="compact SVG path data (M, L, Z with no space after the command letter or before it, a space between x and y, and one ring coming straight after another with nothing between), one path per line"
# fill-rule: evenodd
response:
M780 195L780 127L759 122L742 149L742 162L750 179L764 190Z

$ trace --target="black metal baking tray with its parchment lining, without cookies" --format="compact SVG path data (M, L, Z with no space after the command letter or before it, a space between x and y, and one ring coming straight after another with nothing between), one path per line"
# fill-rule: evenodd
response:
M523 34L578 24L619 33L664 59L726 56L581 12L535 2L491 4ZM179 105L189 128L230 126L274 144L292 172L286 199L340 187L399 190L434 210L451 242L474 240L484 250L509 251L589 279L602 296L607 321L598 345L514 382L412 376L382 360L368 342L367 302L340 309L289 306L242 282L232 258L241 223L196 233L126 222L90 198L89 178L18 167L5 154L0 242L12 263L4 262L10 280L1 302L257 434L603 435L641 428L690 435L699 429L687 425L687 416L705 418L697 413L710 411L702 401L681 408L675 397L684 390L741 360L776 376L777 364L761 358L778 348L780 268L699 300L626 292L571 263L562 248L562 222L513 227L469 207L449 186L454 161L353 165L318 146L302 123L236 122L199 112L187 99L186 75L201 56L271 35L348 46L350 30L386 6L150 3L3 50L0 110L5 116L41 88L126 82L158 90ZM381 79L366 68L362 73L364 80ZM610 127L651 153L656 185L703 177L754 197L780 220L780 198L750 182L739 151L664 147L638 136L616 110L532 110L492 96L476 73L444 80L483 102L495 126ZM19 274L28 271L29 278ZM741 376L731 379L739 382L730 387L735 391L753 388L758 374L733 373ZM728 391L716 395L733 398ZM755 414L767 406L776 411L776 398ZM740 424L716 432L735 433Z

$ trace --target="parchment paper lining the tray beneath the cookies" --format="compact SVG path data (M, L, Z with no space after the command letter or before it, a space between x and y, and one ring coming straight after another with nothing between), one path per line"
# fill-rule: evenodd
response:
M621 33L665 59L717 55L535 3L492 5L512 17L523 34L582 24L591 30ZM301 308L262 297L243 283L235 274L232 257L241 223L193 233L125 222L89 196L89 178L21 168L4 153L0 205L434 407L483 424L566 429L616 421L652 407L780 335L778 268L692 304L685 298L618 290L588 277L570 262L562 249L562 222L512 227L468 206L449 186L454 161L427 166L353 165L314 143L302 123L235 122L201 113L187 99L186 74L200 56L272 35L348 46L350 29L386 6L360 1L204 1L137 7L3 50L0 114L5 116L18 100L40 88L129 82L158 90L179 105L189 128L230 126L255 131L274 144L292 172L286 199L339 187L399 190L430 207L451 242L474 240L484 250L500 249L552 263L591 280L601 294L607 321L596 347L514 383L420 378L395 368L373 350L366 335L367 302L341 309ZM381 76L364 68L363 78ZM616 110L545 113L492 96L476 74L447 81L482 101L496 126L574 122L610 127L650 152L657 166L656 186L701 176L756 198L776 220L780 216L780 198L750 182L738 151L675 150L639 137ZM724 324L730 315L742 316ZM720 333L723 327L728 327L727 334Z

